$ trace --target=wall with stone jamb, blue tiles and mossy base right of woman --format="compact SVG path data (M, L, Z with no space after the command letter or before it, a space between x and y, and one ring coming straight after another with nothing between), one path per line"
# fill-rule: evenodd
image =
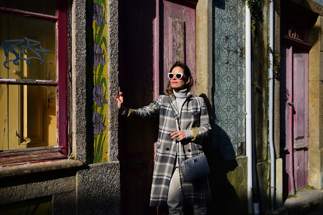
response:
M204 19L208 18L208 24L210 24L209 20L212 23L211 27L208 27L204 22L204 26L201 25L201 29L204 30L201 32L204 34L198 35L200 30L198 22L203 19L199 19L197 13L197 78L199 78L200 66L201 73L205 74L207 71L208 79L197 86L197 92L209 98L206 103L213 128L213 135L209 138L212 144L205 150L211 171L209 184L213 197L213 201L208 204L208 212L245 214L247 212L247 157L244 156L244 1L212 1L212 5L208 1L208 5L204 6L212 7L211 18L209 8L208 10L205 8L201 16L204 15ZM209 35L210 32L211 35ZM207 37L205 33L208 33ZM199 43L200 37L205 41L202 44ZM212 49L203 48L209 42L212 43ZM204 50L204 55L200 55L199 50ZM202 76L200 77L202 79Z

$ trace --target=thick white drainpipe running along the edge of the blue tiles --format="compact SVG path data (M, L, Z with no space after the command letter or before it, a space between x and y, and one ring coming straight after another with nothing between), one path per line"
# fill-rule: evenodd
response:
M245 53L246 53L246 156L248 157L248 213L252 214L252 129L251 129L251 15L247 1L245 23Z

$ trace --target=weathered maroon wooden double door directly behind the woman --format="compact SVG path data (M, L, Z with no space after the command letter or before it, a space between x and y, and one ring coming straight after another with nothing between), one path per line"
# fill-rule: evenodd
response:
M165 92L167 73L176 60L187 63L195 80L192 2L197 1L119 2L119 85L126 107L148 105ZM144 121L120 117L119 131L121 214L155 214L149 197L158 117Z

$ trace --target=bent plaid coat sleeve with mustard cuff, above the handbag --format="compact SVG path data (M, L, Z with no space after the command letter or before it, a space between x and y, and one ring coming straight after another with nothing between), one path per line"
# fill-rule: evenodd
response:
M194 138L192 141L198 141L211 133L212 127L209 122L208 113L203 98L198 98L201 104L200 126L192 127Z

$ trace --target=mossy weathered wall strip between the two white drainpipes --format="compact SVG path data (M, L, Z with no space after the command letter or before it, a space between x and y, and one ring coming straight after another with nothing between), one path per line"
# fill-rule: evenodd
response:
M270 163L268 162L268 1L260 2L261 10L253 33L254 123L259 182L260 211L270 209ZM275 162L275 161L274 161Z

